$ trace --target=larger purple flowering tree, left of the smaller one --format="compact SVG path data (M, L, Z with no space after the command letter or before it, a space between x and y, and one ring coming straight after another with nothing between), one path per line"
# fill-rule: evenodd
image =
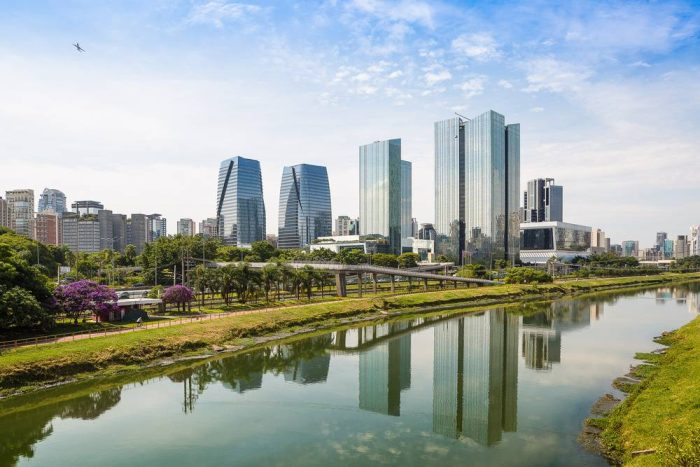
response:
M81 280L56 287L54 297L59 307L74 322L85 312L104 316L110 311L118 311L117 294L107 286L93 281Z

